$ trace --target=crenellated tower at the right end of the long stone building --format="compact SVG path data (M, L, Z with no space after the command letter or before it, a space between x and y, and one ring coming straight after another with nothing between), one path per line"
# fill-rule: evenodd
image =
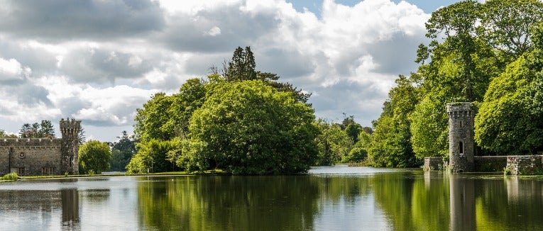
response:
M60 133L62 134L62 166L61 172L68 174L79 174L79 130L81 129L81 120L60 120Z

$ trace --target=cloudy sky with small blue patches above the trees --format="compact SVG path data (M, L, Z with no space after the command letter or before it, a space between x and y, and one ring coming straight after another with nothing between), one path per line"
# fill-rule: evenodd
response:
M133 133L136 108L204 78L236 47L312 93L317 118L371 126L417 69L432 11L456 1L89 0L0 5L0 129L82 120L87 140Z

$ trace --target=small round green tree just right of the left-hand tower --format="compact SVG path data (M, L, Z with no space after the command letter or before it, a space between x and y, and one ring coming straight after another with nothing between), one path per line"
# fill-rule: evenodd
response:
M83 172L90 171L102 174L102 171L109 169L111 151L106 142L89 140L79 147L79 169Z

